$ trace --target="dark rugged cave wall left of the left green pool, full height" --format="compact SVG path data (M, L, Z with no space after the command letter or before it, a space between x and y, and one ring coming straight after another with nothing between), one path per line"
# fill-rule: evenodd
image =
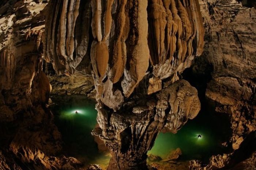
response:
M53 157L62 143L46 108L51 86L42 71L47 4L0 2L0 169L81 167L74 158Z

